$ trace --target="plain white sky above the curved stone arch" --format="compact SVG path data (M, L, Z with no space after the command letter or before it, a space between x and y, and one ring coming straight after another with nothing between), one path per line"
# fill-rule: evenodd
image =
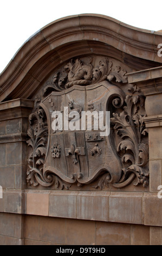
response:
M0 73L31 35L54 20L95 13L158 31L162 29L161 4L161 0L0 0Z

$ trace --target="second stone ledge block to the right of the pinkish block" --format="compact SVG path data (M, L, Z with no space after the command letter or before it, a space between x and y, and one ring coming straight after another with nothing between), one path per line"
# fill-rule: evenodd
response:
M77 218L108 221L109 192L82 191L77 195Z

